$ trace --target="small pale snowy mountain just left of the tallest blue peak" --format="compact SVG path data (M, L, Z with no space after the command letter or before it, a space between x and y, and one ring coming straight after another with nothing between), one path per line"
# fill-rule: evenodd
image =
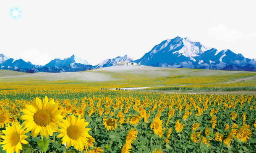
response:
M95 69L112 66L116 63L122 63L122 62L131 62L133 59L129 57L128 55L125 56L118 56L114 59L105 59L104 61L100 62L98 65L93 66Z

